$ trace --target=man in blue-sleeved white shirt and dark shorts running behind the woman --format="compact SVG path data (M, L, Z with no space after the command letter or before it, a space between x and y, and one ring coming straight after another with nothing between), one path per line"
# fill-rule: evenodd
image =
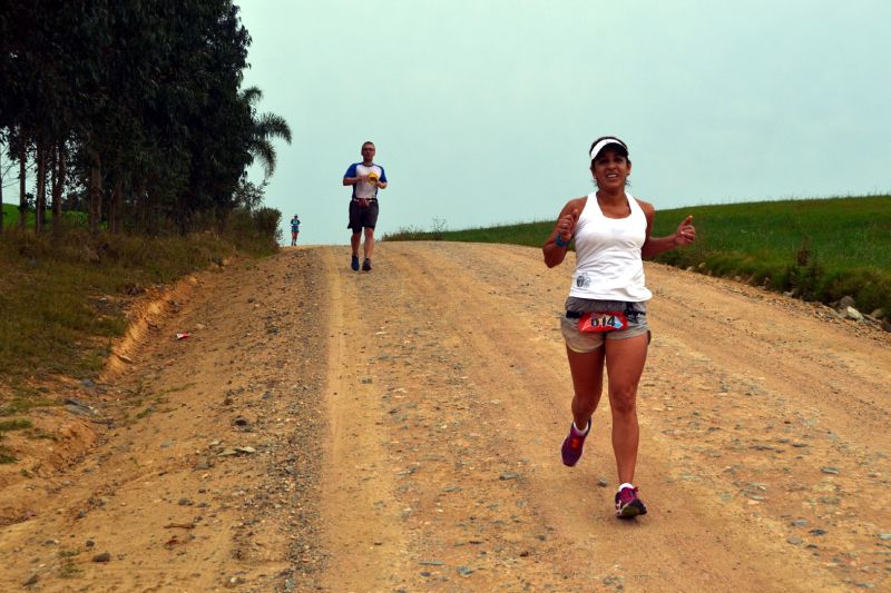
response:
M350 246L353 256L350 267L359 270L359 244L362 229L365 231L364 260L362 269L371 271L371 256L374 251L374 227L378 225L378 190L386 187L386 174L383 167L374 162L374 142L362 145L362 162L353 162L343 175L343 185L353 186L350 200L350 224L353 230Z

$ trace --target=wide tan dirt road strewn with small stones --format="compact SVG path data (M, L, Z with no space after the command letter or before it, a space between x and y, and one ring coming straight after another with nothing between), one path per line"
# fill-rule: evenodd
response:
M0 590L891 589L891 335L648 264L621 522L607 407L559 458L570 265L300 247L156 295L2 466Z

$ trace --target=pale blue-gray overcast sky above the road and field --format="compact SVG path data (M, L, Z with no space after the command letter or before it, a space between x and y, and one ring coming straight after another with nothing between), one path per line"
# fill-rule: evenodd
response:
M266 205L302 244L349 243L364 140L379 237L554 219L604 135L657 211L891 190L888 0L238 3L245 85L294 135Z

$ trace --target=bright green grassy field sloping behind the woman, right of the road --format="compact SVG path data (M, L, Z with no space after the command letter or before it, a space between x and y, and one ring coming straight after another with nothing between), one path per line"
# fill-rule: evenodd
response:
M832 303L844 295L891 312L891 196L761 201L659 210L654 235L693 215L695 245L657 261L695 267ZM457 240L540 247L554 220L467 230L405 229L384 240Z

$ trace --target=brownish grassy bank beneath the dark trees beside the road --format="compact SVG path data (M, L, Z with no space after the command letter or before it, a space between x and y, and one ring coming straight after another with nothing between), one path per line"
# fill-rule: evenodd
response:
M17 208L4 205L10 209L17 220ZM36 401L33 383L95 377L111 339L127 327L127 306L146 288L224 258L274 253L275 237L255 223L236 210L221 233L156 238L68 225L35 235L7 226L0 235L0 417Z

